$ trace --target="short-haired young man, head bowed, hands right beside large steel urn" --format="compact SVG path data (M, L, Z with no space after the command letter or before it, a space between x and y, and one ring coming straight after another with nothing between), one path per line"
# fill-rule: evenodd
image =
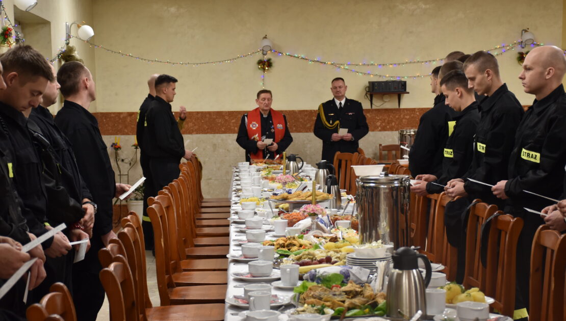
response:
M443 186L454 177L461 177L468 170L471 162L471 149L474 133L479 123L478 103L475 101L474 90L468 88L468 79L461 70L448 72L440 80L440 89L449 105L459 114L452 135L444 146L442 175L418 175L416 180L422 180L411 187L411 192L421 196L441 193Z

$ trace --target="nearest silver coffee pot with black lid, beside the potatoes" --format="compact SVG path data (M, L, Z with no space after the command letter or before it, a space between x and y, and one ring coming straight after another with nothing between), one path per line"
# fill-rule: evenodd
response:
M426 268L424 281L419 272L419 258ZM406 247L397 249L392 259L393 269L387 281L387 316L409 319L421 310L424 318L427 315L424 292L432 275L430 261L426 255Z

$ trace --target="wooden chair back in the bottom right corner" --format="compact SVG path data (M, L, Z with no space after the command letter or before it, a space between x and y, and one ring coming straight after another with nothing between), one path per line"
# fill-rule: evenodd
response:
M530 262L530 321L566 320L564 271L566 236L548 225L534 235Z

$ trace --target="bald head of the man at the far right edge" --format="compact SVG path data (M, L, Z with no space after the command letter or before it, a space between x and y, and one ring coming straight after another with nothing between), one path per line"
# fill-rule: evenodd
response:
M566 73L564 51L555 46L536 47L529 52L519 75L526 93L540 100L556 89Z

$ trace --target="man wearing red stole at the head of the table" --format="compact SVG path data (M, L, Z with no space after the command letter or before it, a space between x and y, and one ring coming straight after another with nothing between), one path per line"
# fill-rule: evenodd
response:
M271 90L260 90L255 99L258 108L242 116L236 142L246 151L247 162L274 159L293 142L285 115L271 109L272 98ZM265 140L272 142L267 144Z

